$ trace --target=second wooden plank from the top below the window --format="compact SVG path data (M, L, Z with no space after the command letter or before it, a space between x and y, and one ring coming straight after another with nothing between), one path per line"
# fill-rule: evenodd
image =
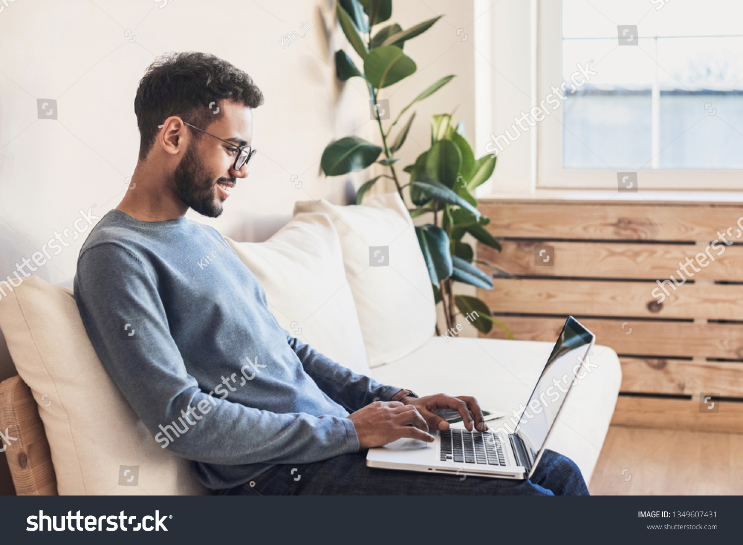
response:
M554 247L551 267L538 266L535 263L535 247L548 244ZM591 278L649 278L661 280L674 275L679 262L686 263L689 258L694 270L687 265L687 271L693 276L690 279L709 279L743 281L743 246L730 246L710 249L715 261L703 253L700 267L695 263L698 252L704 252L704 246L681 244L625 244L597 242L546 242L539 241L503 241L503 251L478 244L478 259L488 261L513 275L542 275ZM706 261L705 261L706 260Z

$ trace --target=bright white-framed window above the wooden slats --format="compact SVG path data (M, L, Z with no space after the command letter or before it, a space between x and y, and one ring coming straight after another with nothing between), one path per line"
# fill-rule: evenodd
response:
M742 1L542 0L538 25L539 98L567 91L537 186L743 188Z

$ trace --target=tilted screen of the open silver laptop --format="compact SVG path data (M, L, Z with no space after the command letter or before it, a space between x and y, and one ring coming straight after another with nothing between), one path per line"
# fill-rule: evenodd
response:
M572 316L562 327L516 431L527 450L531 449L528 454L531 454L532 462L545 445L547 434L557 419L571 383L585 376L586 371L581 369L581 365L583 359L589 357L588 347L593 338L593 333Z

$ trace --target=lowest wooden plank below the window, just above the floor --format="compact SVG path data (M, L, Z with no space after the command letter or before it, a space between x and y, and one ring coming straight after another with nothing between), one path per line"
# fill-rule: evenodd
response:
M743 434L743 403L720 402L719 412L700 412L698 399L620 396L611 425Z

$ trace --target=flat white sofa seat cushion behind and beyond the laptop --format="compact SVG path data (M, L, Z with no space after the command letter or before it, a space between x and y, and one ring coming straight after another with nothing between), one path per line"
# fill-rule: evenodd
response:
M498 428L512 417L519 403L528 401L553 347L551 342L433 337L398 362L375 368L372 376L421 396L438 392L475 396L483 410L506 414L489 422ZM591 372L573 388L547 442L547 448L577 464L586 483L609 431L622 383L617 353L606 346L594 346L591 351Z

